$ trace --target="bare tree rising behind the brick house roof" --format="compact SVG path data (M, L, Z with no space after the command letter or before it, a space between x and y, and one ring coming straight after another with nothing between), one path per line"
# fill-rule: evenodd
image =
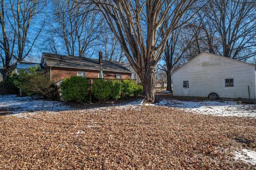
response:
M91 5L77 3L73 0L53 0L54 14L50 18L49 33L52 36L50 46L53 52L58 51L55 38L58 37L68 55L85 57L94 53L95 42L102 23L99 12ZM63 46L61 50L63 52ZM89 54L89 50L92 50Z

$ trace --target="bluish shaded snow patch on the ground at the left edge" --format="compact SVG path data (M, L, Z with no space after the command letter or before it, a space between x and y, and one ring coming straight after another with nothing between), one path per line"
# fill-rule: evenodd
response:
M12 114L22 114L33 111L63 111L73 110L59 101L35 100L29 96L0 95L0 109L8 110Z

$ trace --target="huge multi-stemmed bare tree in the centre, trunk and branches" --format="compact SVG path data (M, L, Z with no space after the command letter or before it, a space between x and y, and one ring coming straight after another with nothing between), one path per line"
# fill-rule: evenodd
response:
M183 15L199 1L116 1L91 0L105 17L115 34L131 67L140 77L146 102L155 101L155 72L165 44L175 29L181 27ZM193 14L192 14L193 15ZM161 29L164 20L171 20L167 29ZM188 21L190 17L186 21ZM186 23L186 21L184 23ZM164 31L164 34L162 33ZM161 37L159 35L164 35Z

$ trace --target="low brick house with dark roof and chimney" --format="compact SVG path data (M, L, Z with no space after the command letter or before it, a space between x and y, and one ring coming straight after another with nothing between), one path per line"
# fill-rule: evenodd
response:
M41 64L50 79L59 84L63 78L83 76L100 78L100 71L104 79L131 79L132 72L122 64L103 61L102 52L99 59L79 58L78 56L43 53Z

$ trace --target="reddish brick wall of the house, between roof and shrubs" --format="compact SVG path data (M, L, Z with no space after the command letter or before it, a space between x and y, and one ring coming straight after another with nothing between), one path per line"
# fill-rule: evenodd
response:
M77 76L77 71L84 71L85 77L87 78L98 78L98 74L99 74L99 71L93 71L93 70L52 67L51 69L52 81L58 82L59 80L65 77ZM103 71L103 74L104 74L104 78L107 78L107 79L115 79L116 74L121 74L122 79L131 79L130 73Z

